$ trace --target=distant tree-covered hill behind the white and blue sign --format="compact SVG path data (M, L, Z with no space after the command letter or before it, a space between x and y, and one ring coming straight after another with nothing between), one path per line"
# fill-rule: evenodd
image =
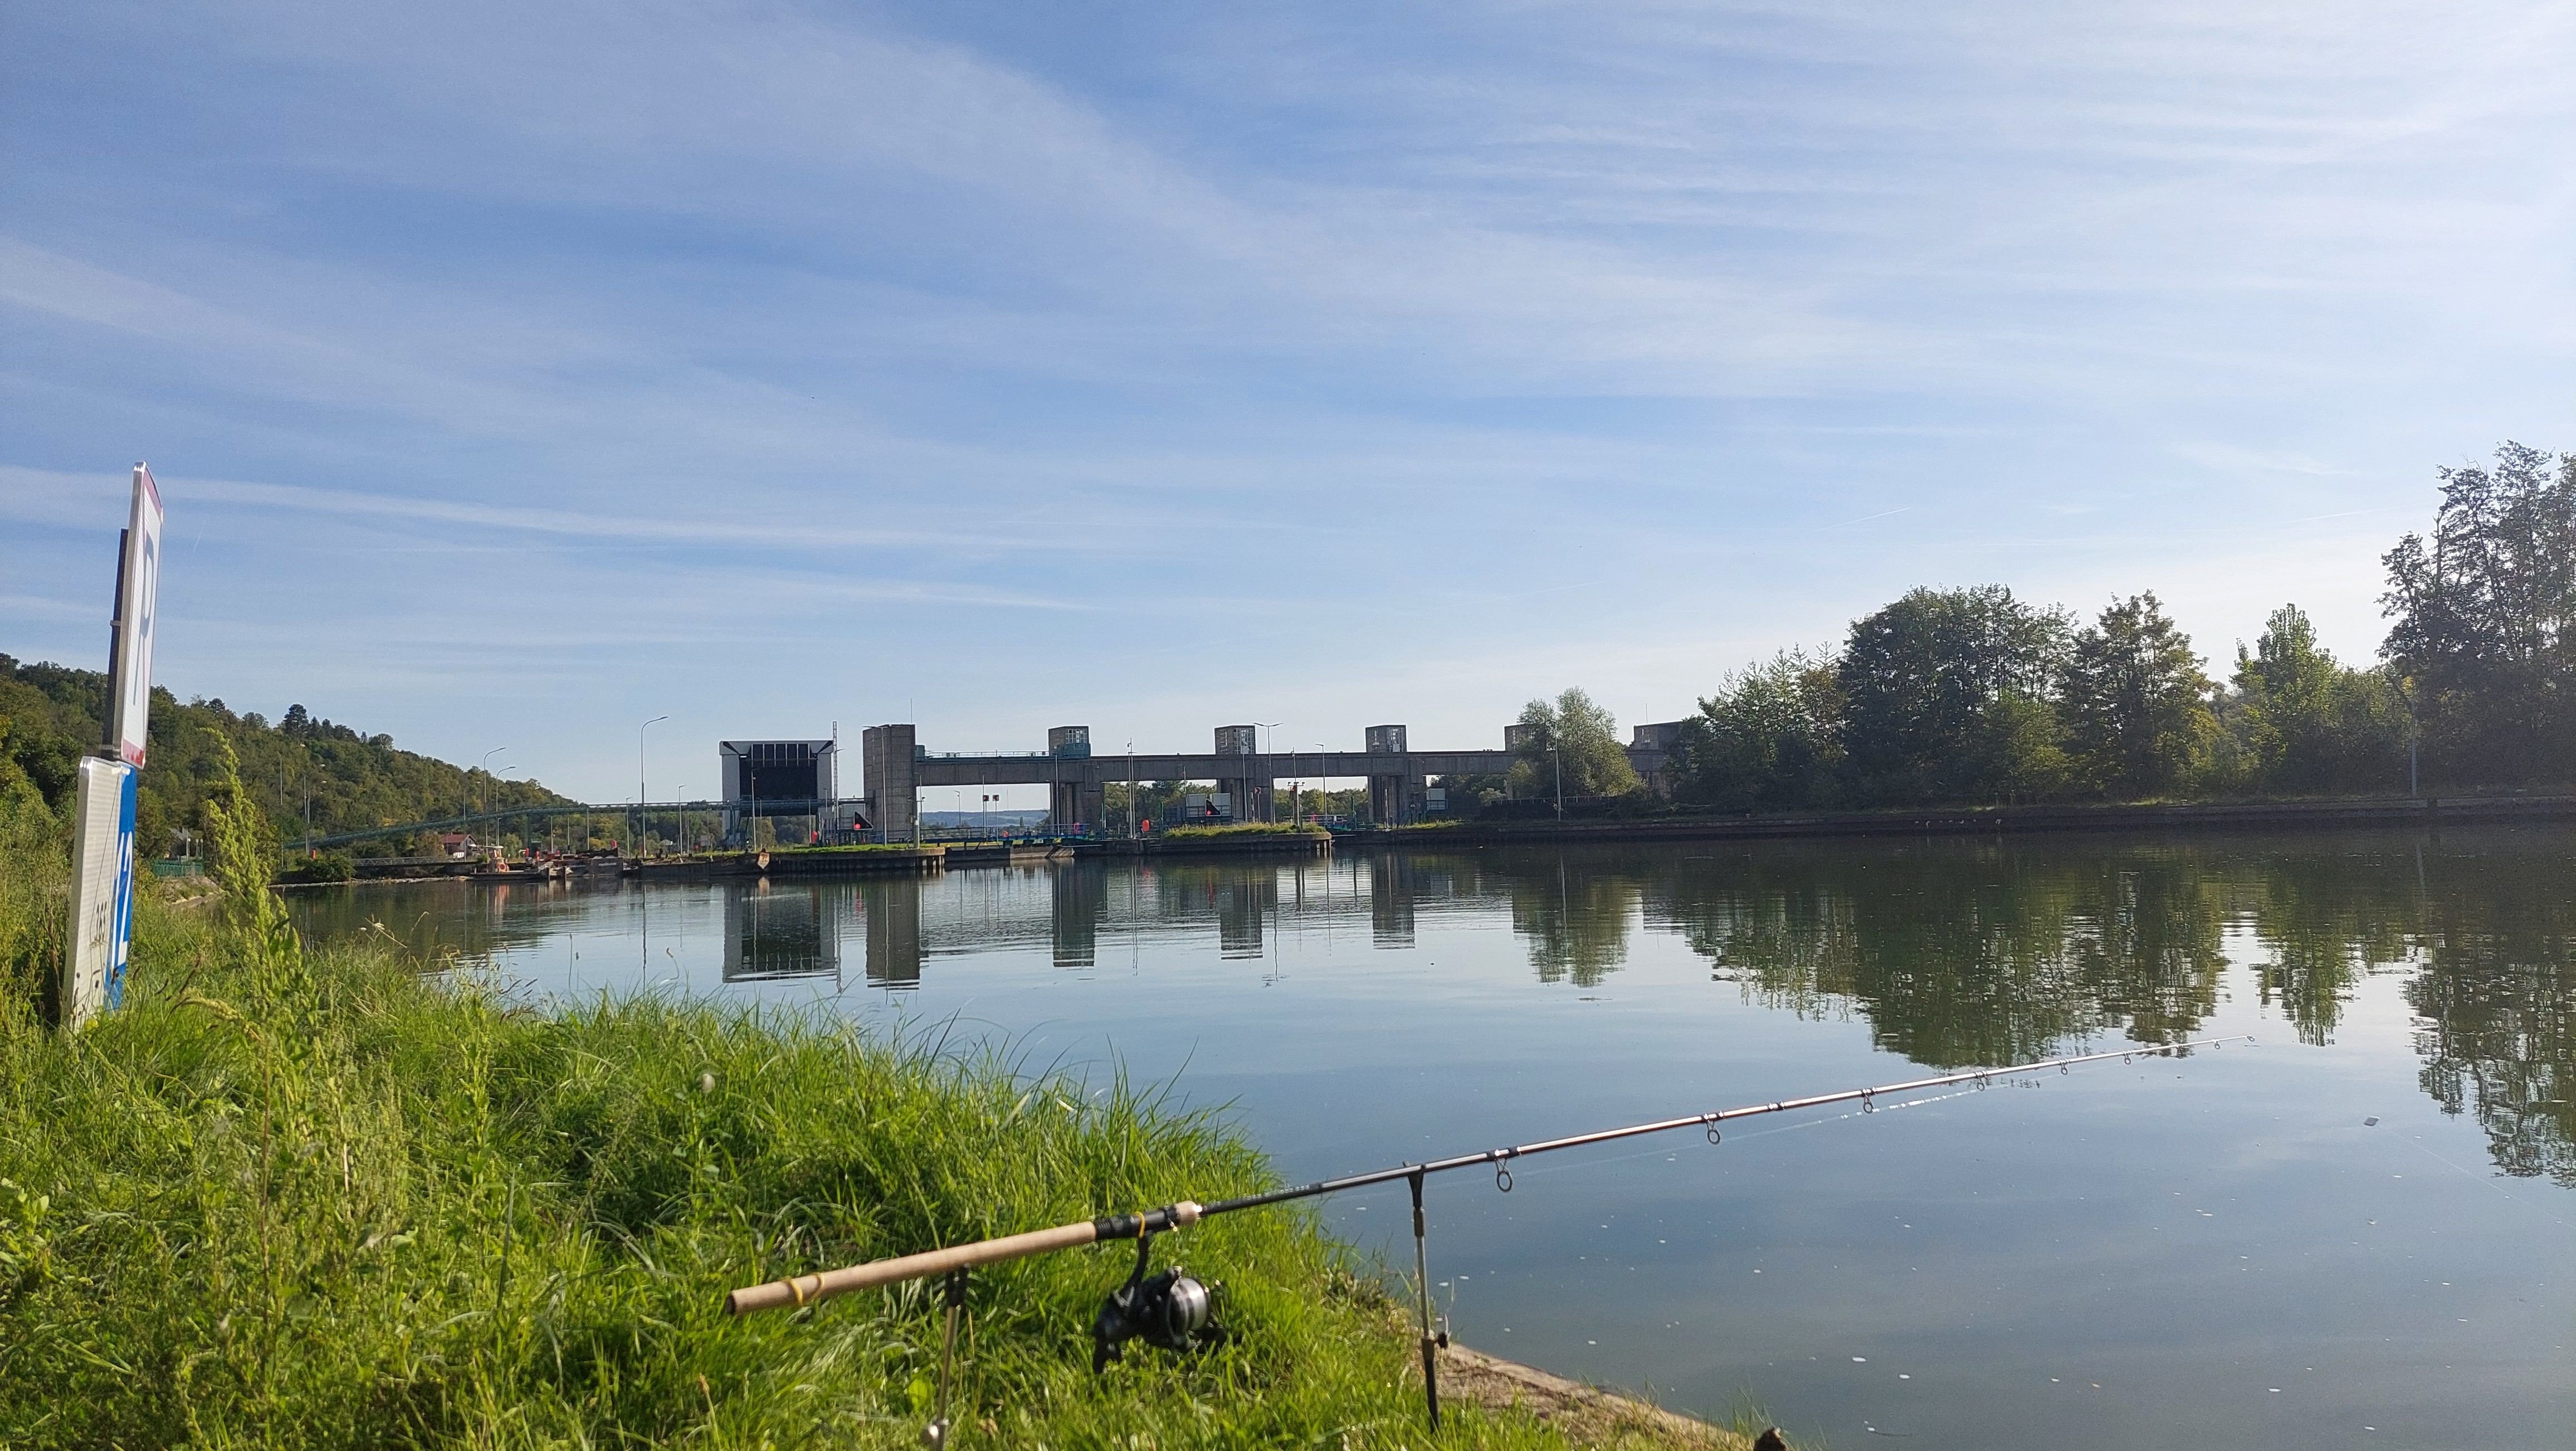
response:
M62 814L80 755L106 737L108 680L98 670L21 665L0 655L0 809L41 799ZM397 750L389 735L361 735L289 706L270 724L224 701L180 704L152 691L152 763L137 794L137 853L165 856L175 832L198 825L198 804L219 760L216 732L232 737L242 783L268 809L278 840L446 817L484 807L556 807L567 796L536 781L500 781L446 760Z

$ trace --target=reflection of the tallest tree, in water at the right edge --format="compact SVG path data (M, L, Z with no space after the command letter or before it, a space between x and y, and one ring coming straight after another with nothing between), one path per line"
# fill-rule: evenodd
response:
M2445 1113L2476 1113L2499 1170L2576 1188L2576 907L2566 858L2442 861L2429 899L2427 972L2406 987L2424 1018L2424 1093Z

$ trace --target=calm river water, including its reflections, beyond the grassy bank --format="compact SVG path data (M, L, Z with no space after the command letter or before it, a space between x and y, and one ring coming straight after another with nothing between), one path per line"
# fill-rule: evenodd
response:
M2576 832L301 894L528 995L1175 1077L1288 1178L2254 1033L1435 1180L1468 1345L1832 1446L2576 1446ZM2375 1119L2375 1124L2372 1124ZM1110 1206L1103 1206L1110 1209ZM1391 1258L1404 1186L1327 1206Z

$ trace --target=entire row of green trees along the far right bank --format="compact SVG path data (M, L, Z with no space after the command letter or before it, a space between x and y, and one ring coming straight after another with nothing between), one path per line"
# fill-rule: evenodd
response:
M2566 786L2576 778L2576 454L2439 472L2385 557L2380 657L2285 603L2215 680L2148 590L2092 619L2004 585L1919 588L1837 647L1785 649L1680 724L1672 802L1721 812ZM1510 778L1453 802L1641 804L1610 711L1530 701Z

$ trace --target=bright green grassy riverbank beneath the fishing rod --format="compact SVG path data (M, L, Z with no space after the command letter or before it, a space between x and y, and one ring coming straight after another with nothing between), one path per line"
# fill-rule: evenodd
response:
M389 938L307 951L242 876L211 910L144 902L126 1008L64 1041L28 1003L54 843L0 822L13 1448L917 1446L930 1291L742 1322L721 1294L1267 1183L1159 1093L827 1018L531 1013ZM1095 1379L1090 1317L1131 1247L981 1271L956 1443L1422 1443L1412 1340L1314 1219L1167 1245L1224 1281L1226 1348ZM1566 1443L1476 1407L1448 1438Z

